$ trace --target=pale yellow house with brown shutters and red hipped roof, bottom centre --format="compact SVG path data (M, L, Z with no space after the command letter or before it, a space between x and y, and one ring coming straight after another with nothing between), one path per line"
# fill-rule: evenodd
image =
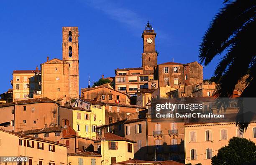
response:
M102 155L101 165L111 165L116 162L133 159L133 140L121 136L104 133L99 140L94 141L94 150L100 151Z

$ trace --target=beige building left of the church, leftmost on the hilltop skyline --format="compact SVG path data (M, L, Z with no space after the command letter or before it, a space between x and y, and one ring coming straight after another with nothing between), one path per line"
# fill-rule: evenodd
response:
M13 70L13 101L33 98L34 90L41 88L39 72L38 67L36 70Z

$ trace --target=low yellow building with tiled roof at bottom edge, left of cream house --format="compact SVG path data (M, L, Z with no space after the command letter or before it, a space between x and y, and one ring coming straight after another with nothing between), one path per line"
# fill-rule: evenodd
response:
M95 152L69 153L67 162L71 165L101 165L101 155Z

